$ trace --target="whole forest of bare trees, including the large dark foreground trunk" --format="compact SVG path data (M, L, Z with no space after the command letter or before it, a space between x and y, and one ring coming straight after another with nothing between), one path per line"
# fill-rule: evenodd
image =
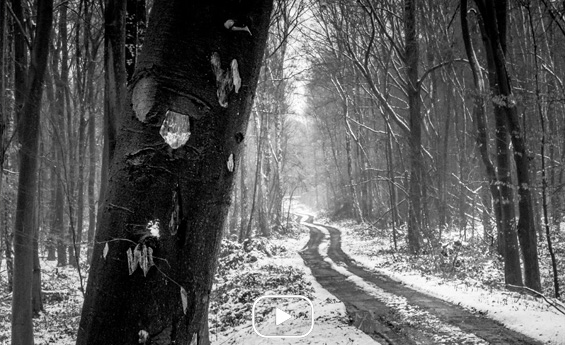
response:
M33 344L44 260L80 277L77 344L127 343L134 315L207 344L222 238L284 236L293 202L405 256L456 232L508 287L559 298L564 16L551 0L0 0L12 344Z

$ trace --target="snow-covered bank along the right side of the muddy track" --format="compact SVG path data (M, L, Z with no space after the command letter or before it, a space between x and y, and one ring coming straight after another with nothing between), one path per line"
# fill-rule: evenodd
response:
M491 325L503 324L507 329L519 332L538 343L565 344L563 299L559 301L547 297L550 292L540 297L524 291L506 289L502 262L496 255L481 249L484 246L463 241L460 249L448 257L439 254L408 257L395 254L387 236L375 234L378 230L368 231L366 226L354 225L351 222L341 222L333 226L341 232L342 249L355 258L356 265L374 275L385 276L386 279L424 293L430 298L439 298L450 305L460 306L474 315L492 320ZM332 234L331 229L328 229L328 236ZM453 243L462 237L460 235L451 233L446 237L451 237L450 242ZM555 239L555 242L558 243L560 253L563 252L563 238ZM546 291L552 291L548 288L552 277L547 269L547 256L542 245L542 285ZM563 267L563 262L560 262L559 267ZM561 274L560 278L563 286L565 276ZM371 284L371 281L368 283ZM426 307L419 303L414 305L426 310ZM475 333L468 326L459 327ZM488 337L485 336L485 339Z

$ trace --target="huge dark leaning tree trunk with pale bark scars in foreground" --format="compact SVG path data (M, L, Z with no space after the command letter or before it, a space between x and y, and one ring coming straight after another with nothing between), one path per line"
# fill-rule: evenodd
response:
M128 97L133 109L120 114L77 344L137 343L145 332L155 343L207 343L205 316L232 163L253 102L271 6L266 0L153 4ZM253 35L229 30L231 15L247 19ZM241 89L237 77L233 89L234 70ZM173 118L185 121L179 135L190 121L186 144L165 131L169 144L163 142L159 128ZM147 228L157 219L159 237ZM139 253L137 245L147 250L143 258L152 251L168 264L155 260L158 269L149 266L146 277L141 269L130 275L126 253Z

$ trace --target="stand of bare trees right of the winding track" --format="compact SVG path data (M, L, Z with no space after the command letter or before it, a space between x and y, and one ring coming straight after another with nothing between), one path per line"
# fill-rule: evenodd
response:
M481 229L506 282L539 291L538 241L554 255L562 214L559 10L403 5L312 10L306 114L326 166L322 207L390 228L410 253L434 251L445 229L466 238Z

